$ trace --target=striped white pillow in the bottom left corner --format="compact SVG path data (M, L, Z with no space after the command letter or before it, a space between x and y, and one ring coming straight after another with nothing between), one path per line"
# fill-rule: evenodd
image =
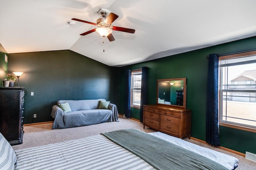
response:
M0 170L14 170L17 157L10 143L0 133Z

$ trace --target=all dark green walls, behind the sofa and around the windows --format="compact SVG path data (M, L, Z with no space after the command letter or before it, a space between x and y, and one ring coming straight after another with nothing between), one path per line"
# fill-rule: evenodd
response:
M256 37L121 68L106 66L69 50L15 53L8 54L8 72L24 72L20 77L20 86L26 87L25 123L52 121L52 106L57 100L63 99L105 98L116 104L119 113L124 114L127 69L148 67L148 104L156 104L157 79L186 77L187 108L192 109L192 137L205 141L206 56L250 49L256 49ZM34 92L34 96L30 96L30 92ZM34 113L38 118L33 119ZM139 109L132 108L132 117L139 119ZM223 147L242 153L256 153L256 148L252 145L255 139L256 133L220 126Z

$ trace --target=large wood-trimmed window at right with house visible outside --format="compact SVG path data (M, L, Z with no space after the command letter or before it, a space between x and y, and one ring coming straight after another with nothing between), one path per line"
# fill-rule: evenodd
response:
M253 52L250 56L240 53L240 57L219 57L220 125L256 129L256 51Z

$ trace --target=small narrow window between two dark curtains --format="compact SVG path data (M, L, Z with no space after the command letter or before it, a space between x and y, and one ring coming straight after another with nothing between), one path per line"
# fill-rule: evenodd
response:
M132 71L131 80L131 106L140 107L142 69Z

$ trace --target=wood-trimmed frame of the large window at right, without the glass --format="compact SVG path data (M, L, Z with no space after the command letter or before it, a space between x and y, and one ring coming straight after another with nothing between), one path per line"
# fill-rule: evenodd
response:
M219 61L221 60L224 60L224 59L231 59L231 58L238 58L238 57L250 57L250 56L254 56L256 55L256 51L247 51L247 52L242 52L242 53L234 53L234 54L230 54L230 55L224 55L224 56L220 56L219 57ZM240 130L244 130L244 131L250 131L250 132L254 132L256 133L256 127L251 127L250 125L246 126L246 125L243 125L243 124L240 124L240 123L235 123L235 122L230 122L230 121L223 121L222 120L222 104L223 104L223 92L228 92L230 90L222 90L221 89L221 82L222 82L222 73L221 73L221 68L219 66L219 82L218 82L218 93L219 93L219 99L218 99L218 102L219 102L219 125L221 126L225 126L225 127L231 127L231 128L234 128L234 129L240 129ZM228 84L228 83L227 83ZM247 83L246 83L247 85ZM250 84L251 85L251 84ZM234 86L234 84L233 84ZM230 87L229 84L227 87ZM239 92L242 92L243 90L239 90ZM249 92L249 91L246 91L246 92ZM254 91L255 92L255 91Z

